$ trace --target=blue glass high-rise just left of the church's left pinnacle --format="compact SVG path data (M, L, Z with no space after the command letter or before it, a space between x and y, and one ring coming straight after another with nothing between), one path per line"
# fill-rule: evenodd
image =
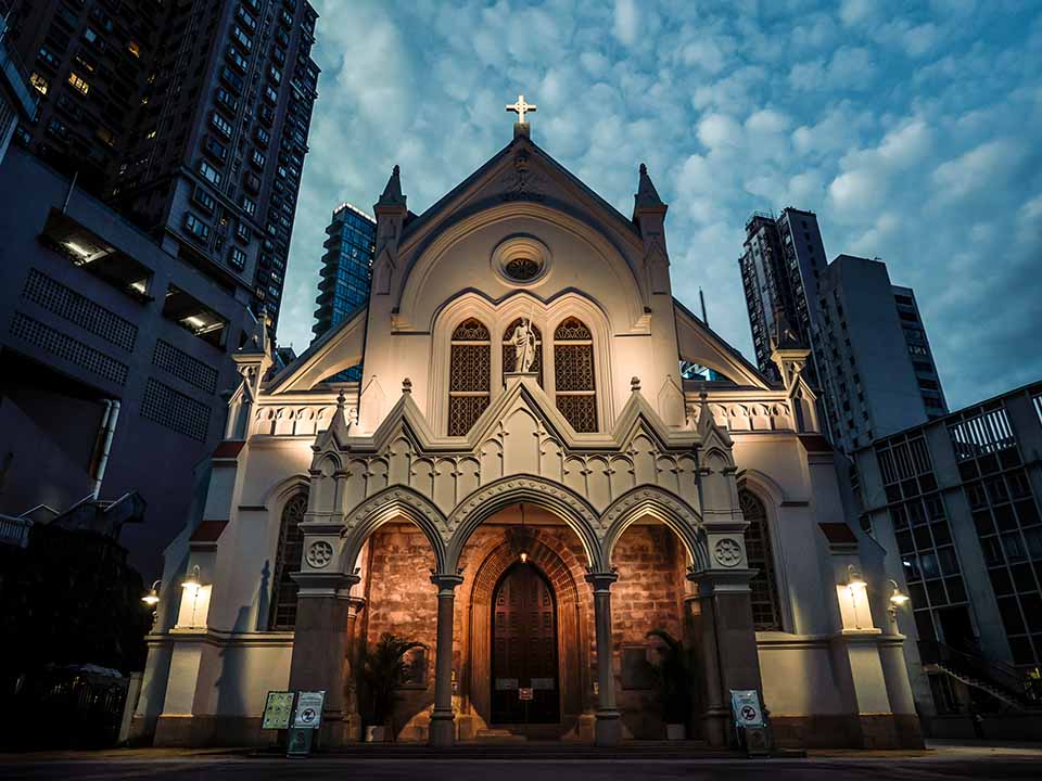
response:
M377 221L348 203L333 210L326 228L321 280L315 303L315 338L339 325L369 300L372 254L377 242ZM352 377L359 379L359 377Z

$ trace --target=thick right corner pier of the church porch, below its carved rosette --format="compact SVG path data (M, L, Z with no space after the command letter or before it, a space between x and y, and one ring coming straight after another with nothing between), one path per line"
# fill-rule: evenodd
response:
M760 655L752 623L749 580L753 569L709 569L691 573L698 586L702 645L699 649L706 676L703 734L710 745L734 740L729 690L755 689L763 703Z

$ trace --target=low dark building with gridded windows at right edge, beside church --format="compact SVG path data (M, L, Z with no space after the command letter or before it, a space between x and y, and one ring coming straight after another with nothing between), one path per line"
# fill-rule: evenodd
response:
M862 525L911 597L898 618L919 641L904 645L913 686L927 674L941 715L1042 700L1040 452L1035 383L854 453Z

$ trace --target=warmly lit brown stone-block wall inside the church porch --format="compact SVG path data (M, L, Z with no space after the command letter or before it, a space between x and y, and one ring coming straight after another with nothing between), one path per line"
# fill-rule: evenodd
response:
M457 671L457 706L469 708L471 688L481 690L488 686L481 675L472 676L471 661L487 658L487 650L470 654L471 642L487 643L487 631L471 626L472 615L480 613L482 590L491 586L488 569L503 568L495 556L503 558L505 527L484 525L474 532L461 556L463 584L456 590L454 669ZM583 710L595 708L592 681L596 680L596 653L594 650L593 597L585 582L585 554L577 537L568 527L539 526L530 530L535 562L556 585L558 600L574 605L577 618L559 622L561 632L562 669L561 686L566 703L563 714L574 718ZM543 552L537 549L542 547ZM510 553L512 555L512 552ZM619 581L612 587L612 628L615 645L614 669L620 709L628 731L636 738L661 738L664 735L659 718L659 704L649 689L623 689L622 654L625 646L653 644L645 638L650 629L664 628L674 637L681 637L681 615L684 594L683 549L672 532L662 526L632 526L619 540L614 562ZM409 688L402 692L395 712L394 724L402 739L425 738L427 715L434 700L434 655L437 623L437 597L430 581L434 556L423 534L414 525L387 524L370 539L364 555L363 573L367 605L361 616L360 633L372 644L385 632L427 643L425 687ZM475 582L478 590L475 591ZM478 603L471 605L471 598ZM484 597L487 601L487 594ZM472 613L472 610L475 611ZM571 609L571 615L576 615ZM473 638L473 640L472 640ZM566 663L569 649L582 646L573 661ZM647 657L655 660L652 651ZM479 667L481 664L479 663ZM483 709L484 699L474 693L476 709Z

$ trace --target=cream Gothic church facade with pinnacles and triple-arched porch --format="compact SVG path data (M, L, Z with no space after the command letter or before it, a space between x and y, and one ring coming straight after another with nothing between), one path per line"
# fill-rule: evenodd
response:
M138 734L263 743L266 693L292 689L327 692L325 745L359 740L360 660L391 632L423 644L399 741L613 745L681 720L726 745L730 690L755 690L777 745L922 743L806 350L776 345L772 383L675 300L666 205L637 181L627 218L526 123L421 215L395 167L368 306L279 371L263 325L236 356ZM679 712L658 631L683 644Z

